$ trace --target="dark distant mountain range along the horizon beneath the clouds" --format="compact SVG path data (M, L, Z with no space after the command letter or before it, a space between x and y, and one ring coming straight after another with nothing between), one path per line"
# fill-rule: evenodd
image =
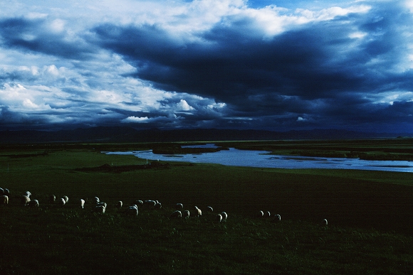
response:
M172 141L256 141L291 139L377 139L411 134L365 133L337 129L300 131L263 131L231 129L146 129L130 127L91 127L61 131L0 131L0 144L31 144L49 142L172 142Z

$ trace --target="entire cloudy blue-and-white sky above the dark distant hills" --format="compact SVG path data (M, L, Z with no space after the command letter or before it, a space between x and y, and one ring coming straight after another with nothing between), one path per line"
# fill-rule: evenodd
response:
M0 129L413 133L413 0L2 0Z

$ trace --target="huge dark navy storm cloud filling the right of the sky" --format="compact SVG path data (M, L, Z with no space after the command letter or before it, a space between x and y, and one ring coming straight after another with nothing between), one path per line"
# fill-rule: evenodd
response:
M100 45L135 65L135 77L159 89L214 98L229 104L234 116L261 122L271 116L272 122L310 122L304 117L312 116L347 126L356 116L338 112L343 103L366 123L375 120L371 109L398 118L392 107L372 107L365 95L413 87L412 70L392 70L406 48L399 29L411 22L399 6L383 4L367 15L308 23L271 38L251 18L236 16L198 33L197 40L177 40L148 25L105 24L94 32ZM364 38L352 38L355 32Z

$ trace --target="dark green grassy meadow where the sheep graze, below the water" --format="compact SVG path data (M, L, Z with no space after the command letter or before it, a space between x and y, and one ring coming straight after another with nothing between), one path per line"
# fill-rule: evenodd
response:
M412 173L146 166L100 153L153 146L2 146L0 187L11 196L0 206L0 274L413 274ZM20 204L26 190L38 208ZM108 203L103 215L78 207L95 196ZM162 208L125 215L149 199ZM169 219L176 203L204 215ZM208 205L228 220L214 222Z

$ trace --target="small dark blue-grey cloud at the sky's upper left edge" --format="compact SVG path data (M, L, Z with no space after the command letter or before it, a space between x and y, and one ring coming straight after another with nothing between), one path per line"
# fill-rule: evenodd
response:
M43 19L3 19L0 21L0 45L70 59L84 60L92 53L90 45L79 38L68 38L65 32L53 31L48 24L50 22Z

